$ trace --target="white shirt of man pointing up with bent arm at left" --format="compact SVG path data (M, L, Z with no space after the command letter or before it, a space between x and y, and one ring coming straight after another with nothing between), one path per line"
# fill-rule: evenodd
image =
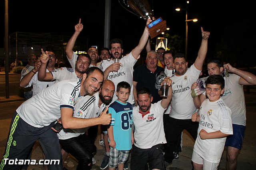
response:
M68 79L79 79L76 76L76 72L74 71L74 69L67 67L55 69L54 71L50 71L50 73L52 73L53 80L56 80L56 82Z

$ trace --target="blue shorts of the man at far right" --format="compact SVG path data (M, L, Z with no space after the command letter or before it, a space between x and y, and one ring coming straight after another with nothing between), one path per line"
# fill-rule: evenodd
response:
M244 131L246 127L243 125L236 125L236 124L232 124L232 126L233 126L233 134L227 137L225 147L231 146L241 150L243 140L244 140Z

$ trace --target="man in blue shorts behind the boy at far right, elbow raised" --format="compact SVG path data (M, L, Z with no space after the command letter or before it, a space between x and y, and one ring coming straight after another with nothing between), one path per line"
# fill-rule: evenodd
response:
M222 95L222 99L232 111L231 116L233 125L233 135L227 137L225 144L225 146L228 147L226 169L235 170L246 128L246 106L243 86L256 85L256 75L236 69L229 63L223 66L219 59L209 59L207 61L207 68L209 75L224 75L225 91ZM224 69L233 74L223 73ZM206 95L205 93L202 93L200 95L200 100L199 97L194 99L195 105L200 106L204 99L206 99Z

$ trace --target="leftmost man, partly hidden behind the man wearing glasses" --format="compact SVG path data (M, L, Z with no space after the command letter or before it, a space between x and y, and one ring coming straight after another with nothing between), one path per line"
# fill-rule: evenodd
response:
M34 54L28 55L28 65L26 65L26 67L24 67L22 69L21 74L20 74L20 80L22 79L22 77L24 77L26 74L28 74L32 69L34 69L36 59L37 59L36 55L34 55ZM32 95L33 95L33 89L30 86L24 88L24 98L26 100L29 99L30 97L32 97Z

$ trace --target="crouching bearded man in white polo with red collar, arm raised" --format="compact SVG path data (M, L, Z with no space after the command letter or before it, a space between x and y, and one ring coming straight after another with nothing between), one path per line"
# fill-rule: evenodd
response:
M142 87L137 93L138 106L133 108L134 147L131 154L132 170L164 170L163 115L172 99L172 81L165 78L169 86L168 97L152 104L150 90Z

